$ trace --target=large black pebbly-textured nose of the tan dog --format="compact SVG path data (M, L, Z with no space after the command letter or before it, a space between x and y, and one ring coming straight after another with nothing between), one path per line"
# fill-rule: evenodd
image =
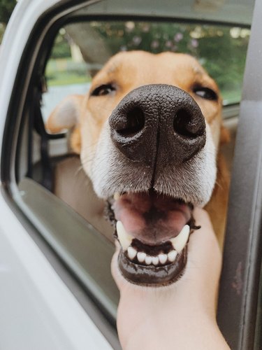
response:
M179 165L205 146L205 119L194 99L172 85L143 85L109 118L111 139L127 158L146 165Z

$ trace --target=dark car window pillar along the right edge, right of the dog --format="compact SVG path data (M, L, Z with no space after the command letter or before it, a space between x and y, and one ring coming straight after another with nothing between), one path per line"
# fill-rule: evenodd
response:
M262 316L258 308L262 293L261 11L262 1L256 0L235 142L217 315L229 346L239 350L259 350L262 346L261 329L256 328Z

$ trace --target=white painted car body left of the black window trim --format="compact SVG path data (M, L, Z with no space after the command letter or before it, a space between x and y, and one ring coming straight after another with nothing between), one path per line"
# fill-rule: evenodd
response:
M0 146L17 68L36 20L57 0L22 0L1 45ZM0 349L112 349L0 193Z

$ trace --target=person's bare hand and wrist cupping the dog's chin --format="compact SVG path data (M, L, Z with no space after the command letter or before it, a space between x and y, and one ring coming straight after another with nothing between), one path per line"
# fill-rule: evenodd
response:
M229 349L216 323L221 252L208 214L194 209L195 231L183 276L164 287L143 287L112 275L120 291L117 330L123 349Z

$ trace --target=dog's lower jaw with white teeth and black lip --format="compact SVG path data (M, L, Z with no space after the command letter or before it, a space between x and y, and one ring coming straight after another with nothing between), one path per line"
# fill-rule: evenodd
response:
M194 223L194 219L192 220ZM124 232L117 222L119 270L124 278L141 286L166 286L182 276L187 264L189 234L197 227L185 225L180 235L158 246L147 246Z

